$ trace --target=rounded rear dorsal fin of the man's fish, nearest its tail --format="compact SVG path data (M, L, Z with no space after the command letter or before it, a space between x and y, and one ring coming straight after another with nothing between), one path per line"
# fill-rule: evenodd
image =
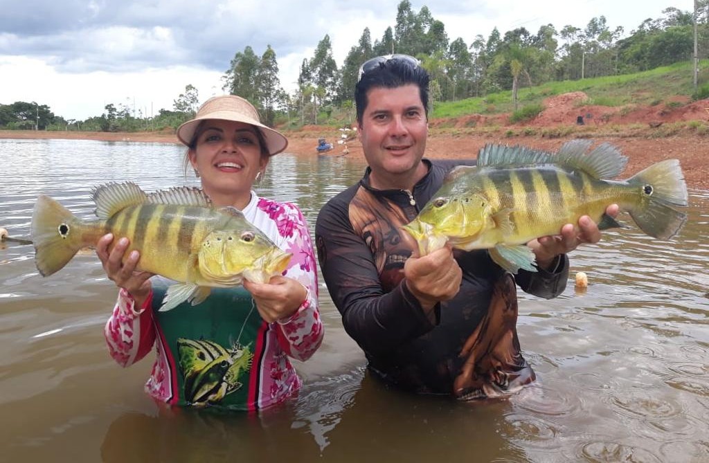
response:
M557 153L557 163L566 169L579 169L594 179L614 179L623 172L627 157L617 147L602 143L591 152L591 140L571 140L564 143Z

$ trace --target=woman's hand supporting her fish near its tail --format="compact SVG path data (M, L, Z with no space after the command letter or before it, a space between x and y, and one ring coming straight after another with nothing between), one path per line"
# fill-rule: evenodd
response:
M96 255L99 256L101 264L104 265L108 279L116 283L119 288L128 291L130 296L133 296L136 308L142 307L145 299L150 295L152 289L150 277L153 274L135 270L140 259L138 251L130 252L128 259L123 263L123 255L130 244L128 238L118 240L116 246L109 253L108 245L111 244L111 241L113 241L113 233L102 236L99 242L96 243Z

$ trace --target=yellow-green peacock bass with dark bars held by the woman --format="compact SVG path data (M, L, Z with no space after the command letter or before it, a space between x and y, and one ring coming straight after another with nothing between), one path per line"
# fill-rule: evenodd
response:
M49 196L40 195L32 215L35 264L45 277L59 271L82 247L106 233L125 236L140 252L140 270L177 281L161 311L189 301L194 306L212 287L263 283L286 269L291 254L277 247L237 208L216 208L201 189L177 187L146 194L131 182L93 191L97 221L82 221ZM117 240L113 240L109 252Z

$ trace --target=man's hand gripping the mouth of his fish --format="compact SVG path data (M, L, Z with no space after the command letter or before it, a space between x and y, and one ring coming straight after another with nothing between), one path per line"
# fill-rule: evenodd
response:
M450 246L423 257L410 257L403 266L405 283L425 311L452 299L460 289L463 272Z

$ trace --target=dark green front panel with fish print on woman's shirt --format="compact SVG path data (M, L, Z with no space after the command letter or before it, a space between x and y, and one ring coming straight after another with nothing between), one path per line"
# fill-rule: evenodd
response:
M248 291L219 288L197 306L184 302L161 312L157 309L166 289L153 282L153 316L159 320L167 367L177 370L169 372L177 385L169 402L247 408L258 386L258 378L252 377L255 345L268 329Z

